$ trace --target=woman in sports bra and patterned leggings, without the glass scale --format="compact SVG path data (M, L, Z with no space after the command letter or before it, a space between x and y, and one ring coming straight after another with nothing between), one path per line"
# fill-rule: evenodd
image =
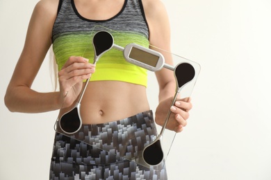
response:
M60 109L59 116L62 116L74 106L83 80L91 76L81 101L83 127L79 133L85 134L86 128L85 136L94 134L97 138L99 134L94 132L98 127L108 130L109 126L122 125L128 120L128 126L116 127L114 132L147 125L151 132L142 128L144 137L156 136L146 96L146 71L125 62L121 53L113 50L104 54L97 66L92 64L93 53L86 42L90 41L88 38L92 30L99 27L97 25L120 32L113 35L115 44L120 46L134 42L170 51L170 25L159 0L41 0L33 10L24 49L6 91L6 106L10 111L24 113ZM58 64L60 91L40 93L31 89L31 84L51 45ZM171 57L164 55L166 63L172 64ZM110 74L106 75L108 71ZM167 69L157 71L156 78L159 105L155 117L156 123L163 125L176 83L172 71ZM177 100L170 107L172 116L167 129L181 132L191 108L190 98ZM115 141L115 138L108 139ZM88 143L57 132L50 179L167 179L165 168L155 171L133 161L121 160L115 147L113 159L105 160L110 152Z

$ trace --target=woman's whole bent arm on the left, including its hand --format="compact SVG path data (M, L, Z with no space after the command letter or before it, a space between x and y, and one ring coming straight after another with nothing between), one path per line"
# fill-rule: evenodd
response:
M10 111L38 113L60 109L67 91L93 72L90 70L93 66L83 57L70 57L65 64L65 69L59 73L60 92L40 93L31 89L33 80L51 46L51 32L57 9L58 1L42 0L33 10L22 54L6 91L5 103ZM75 71L78 69L83 70ZM79 91L80 86L76 88ZM76 93L78 95L79 92ZM69 98L66 97L66 106L71 105L76 99L76 95L73 94L69 93Z

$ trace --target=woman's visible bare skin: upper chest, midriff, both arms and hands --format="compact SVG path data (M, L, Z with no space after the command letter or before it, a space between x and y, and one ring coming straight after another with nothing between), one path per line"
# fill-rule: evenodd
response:
M120 12L124 0L74 0L74 2L81 16L105 20ZM159 0L142 0L142 3L149 24L150 44L170 51L170 23L163 3ZM73 107L81 92L83 80L95 73L95 66L88 60L72 56L58 72L60 91L40 93L31 89L52 43L51 31L57 8L58 0L41 0L33 10L22 54L6 91L5 103L10 111L40 113L60 109L61 116ZM164 53L164 56L167 64L173 64L169 55ZM156 78L159 84L156 123L163 125L175 93L176 83L172 71L167 69L157 71ZM191 108L190 98L178 99L171 107L172 115L167 129L181 132L187 124ZM147 110L149 102L146 88L127 82L90 82L81 101L83 124L120 120Z

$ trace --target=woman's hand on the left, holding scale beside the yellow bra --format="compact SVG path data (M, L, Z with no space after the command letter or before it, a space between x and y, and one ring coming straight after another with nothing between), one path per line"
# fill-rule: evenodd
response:
M71 106L81 93L83 80L90 78L95 72L95 64L79 56L69 57L63 68L58 72L60 84L60 102L63 108Z

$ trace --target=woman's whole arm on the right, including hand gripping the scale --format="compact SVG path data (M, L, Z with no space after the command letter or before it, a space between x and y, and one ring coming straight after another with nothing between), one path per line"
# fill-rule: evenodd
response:
M165 51L170 52L170 22L165 7L160 0L143 0L142 2L149 24L150 44L163 49L164 51L160 52L165 57L165 63L173 65L172 56L170 53L165 53ZM176 82L174 73L165 68L156 71L156 78L159 84L159 105L156 109L156 123L163 125L176 91ZM170 116L167 129L181 132L187 124L188 111L191 108L190 98L176 100L174 107L171 107L172 116Z

